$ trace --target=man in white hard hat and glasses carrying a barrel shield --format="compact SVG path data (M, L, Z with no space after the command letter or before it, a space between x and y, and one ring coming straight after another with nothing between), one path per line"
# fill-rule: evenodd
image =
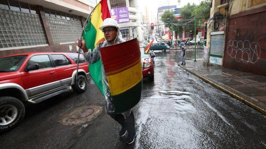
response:
M78 46L84 51L86 60L89 62L89 64L93 64L99 60L102 61L99 48L125 42L125 40L122 39L122 34L119 31L120 27L114 19L106 18L103 21L102 26L99 27L99 29L102 30L102 32L104 33L105 40L103 42L98 43L98 45L93 49L92 52L88 52L89 50L87 49L85 40L83 38L81 40L78 39ZM104 72L103 66L102 71ZM107 83L107 78L104 74L102 78L103 83ZM135 118L132 109L129 109L124 113L115 114L114 105L111 102L112 97L110 96L111 92L109 85L105 84L105 87L107 89L107 93L106 95L104 95L105 111L122 126L119 132L120 137L124 136L128 132L128 137L125 143L131 144L134 142L137 136L135 130Z

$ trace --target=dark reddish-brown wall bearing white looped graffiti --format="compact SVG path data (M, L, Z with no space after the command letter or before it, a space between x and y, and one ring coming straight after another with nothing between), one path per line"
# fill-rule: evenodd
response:
M265 19L265 7L230 16L223 67L266 76Z

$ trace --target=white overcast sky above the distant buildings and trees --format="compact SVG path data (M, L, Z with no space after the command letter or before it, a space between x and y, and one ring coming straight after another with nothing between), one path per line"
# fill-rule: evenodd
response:
M147 6L148 13L152 15L153 18L157 17L158 1L159 0L138 0L141 13L144 15L146 14L145 6ZM190 3L190 4L195 3L196 5L199 5L201 1L202 0L180 0L180 3L179 3L178 0L170 0L170 5L177 5L177 8L181 8L187 5L187 3ZM155 18L154 19L150 18L149 22L151 20L155 20Z

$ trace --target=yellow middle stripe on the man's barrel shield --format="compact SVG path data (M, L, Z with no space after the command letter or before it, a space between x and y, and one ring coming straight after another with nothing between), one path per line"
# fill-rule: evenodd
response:
M139 61L137 64L126 70L106 76L112 96L127 91L141 81L141 64L141 61Z

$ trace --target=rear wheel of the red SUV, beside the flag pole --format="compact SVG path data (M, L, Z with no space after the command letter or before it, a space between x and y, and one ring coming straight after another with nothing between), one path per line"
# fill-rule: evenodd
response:
M77 93L83 93L87 88L87 79L83 75L78 75L78 79L75 78L75 84L72 85L73 91Z

